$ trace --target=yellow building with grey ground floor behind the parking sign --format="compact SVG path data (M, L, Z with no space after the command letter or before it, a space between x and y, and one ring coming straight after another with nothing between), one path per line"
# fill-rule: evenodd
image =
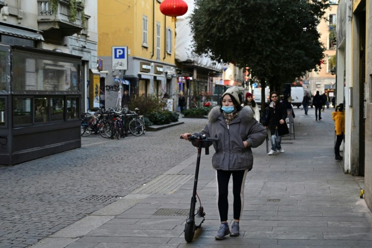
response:
M98 58L103 68L92 74L100 75L101 107L119 107L118 92L123 90L132 96L175 97L175 22L160 12L160 4L158 0L98 1ZM126 47L123 64L113 57L113 47Z

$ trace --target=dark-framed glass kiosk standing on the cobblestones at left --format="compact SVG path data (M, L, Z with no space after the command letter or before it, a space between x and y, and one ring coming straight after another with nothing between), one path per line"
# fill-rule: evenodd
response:
M81 57L0 44L0 164L81 147Z

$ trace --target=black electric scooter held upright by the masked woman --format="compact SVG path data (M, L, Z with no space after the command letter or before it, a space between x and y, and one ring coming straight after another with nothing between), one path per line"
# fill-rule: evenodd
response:
M180 137L181 139L182 136ZM191 205L190 205L190 214L186 220L186 224L184 225L184 239L187 242L193 241L195 230L202 226L202 223L205 220L205 212L202 206L202 202L197 194L197 185L198 185L198 176L199 176L199 166L200 166L200 157L202 154L202 149L205 148L205 154L209 154L209 146L211 142L217 142L217 138L210 138L203 136L189 136L189 141L193 142L193 145L198 147L198 158L196 162L196 169L195 169L195 179L194 179L194 189L193 189L193 196L191 197ZM199 208L197 213L195 214L195 206L196 206L196 196L198 196L199 200Z

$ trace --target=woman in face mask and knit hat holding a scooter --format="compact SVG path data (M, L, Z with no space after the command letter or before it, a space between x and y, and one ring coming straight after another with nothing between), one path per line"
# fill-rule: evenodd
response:
M208 124L201 133L218 138L218 144L213 143L215 153L212 166L217 179L217 208L221 225L215 236L223 239L226 235L239 236L239 221L243 213L244 185L247 173L253 167L251 148L263 143L266 129L254 118L250 107L242 107L239 102L237 87L229 88L223 93L220 105L212 108L208 114ZM191 133L181 134L188 140ZM232 194L234 195L231 231L228 227L228 182L232 176Z

